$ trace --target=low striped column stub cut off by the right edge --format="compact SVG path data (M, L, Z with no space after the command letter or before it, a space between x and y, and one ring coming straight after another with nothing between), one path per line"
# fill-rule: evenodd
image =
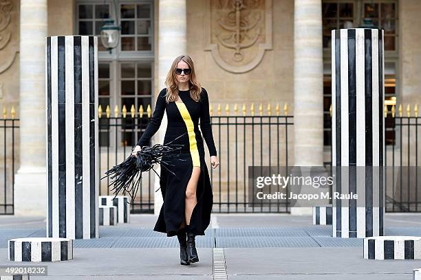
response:
M365 259L421 259L420 236L364 238Z

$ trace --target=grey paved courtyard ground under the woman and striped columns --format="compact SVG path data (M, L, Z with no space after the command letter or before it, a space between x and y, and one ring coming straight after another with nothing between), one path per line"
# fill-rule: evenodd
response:
M98 240L76 240L74 260L48 263L47 277L32 279L213 279L212 248L223 247L228 279L411 280L421 261L363 259L363 240L331 237L330 226L310 216L215 214L197 237L200 261L180 266L176 237L152 231L155 215L131 215L130 224L100 226ZM421 214L387 213L387 235L421 236ZM0 266L7 240L45 235L43 218L0 216ZM28 265L27 263L19 263Z

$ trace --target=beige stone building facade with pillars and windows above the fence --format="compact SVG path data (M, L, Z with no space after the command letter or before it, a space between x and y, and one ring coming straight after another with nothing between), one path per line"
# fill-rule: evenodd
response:
M103 110L107 104L111 110L123 105L129 110L132 104L153 108L173 58L188 54L213 109L223 105L222 115L226 104L230 110L246 104L249 110L252 103L263 103L264 112L268 103L272 108L288 104L294 115L290 163L296 165L323 165L330 157L330 132L323 126L330 104L330 30L358 27L368 17L389 28L387 97L405 106L421 102L418 0L111 2L0 3L0 108L14 106L21 126L14 185L17 215L42 215L45 208L45 36L99 34L108 16L117 16L122 30L118 47L111 53L102 48L99 54Z

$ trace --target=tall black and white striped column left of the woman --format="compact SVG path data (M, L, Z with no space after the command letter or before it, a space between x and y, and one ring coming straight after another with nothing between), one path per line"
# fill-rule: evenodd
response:
M98 237L98 40L47 37L47 236Z

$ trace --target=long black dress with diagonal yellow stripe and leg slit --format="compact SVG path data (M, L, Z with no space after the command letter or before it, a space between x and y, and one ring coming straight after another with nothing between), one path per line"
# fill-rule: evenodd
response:
M202 134L199 130L199 119L209 154L210 156L217 155L210 126L208 93L202 88L200 100L196 102L191 98L190 91L179 91L182 102L179 100L168 104L165 95L166 89L162 89L156 100L152 118L138 141L140 146L149 143L149 139L158 131L166 110L168 126L164 144L182 145L180 159L171 159L171 164L174 166L169 167L176 176L166 168L161 167L160 187L164 203L153 230L166 233L167 236L177 234L185 220L185 194L188 180L191 178L193 166L199 166L200 176L196 189L197 205L193 209L189 229L195 235L204 235L204 231L210 223L213 192L204 159L205 153ZM180 135L182 136L180 137ZM175 140L177 137L179 138ZM168 161L169 159L164 160Z

